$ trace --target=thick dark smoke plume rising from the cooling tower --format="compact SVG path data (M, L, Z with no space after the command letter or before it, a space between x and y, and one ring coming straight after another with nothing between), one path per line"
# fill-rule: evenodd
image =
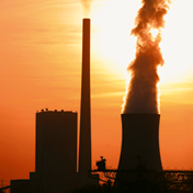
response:
M163 16L167 14L169 0L143 0L135 20L132 35L137 37L136 57L127 70L130 76L125 95L123 113L159 113L158 66L163 65L159 43L160 30L164 26ZM157 30L156 37L151 30Z

